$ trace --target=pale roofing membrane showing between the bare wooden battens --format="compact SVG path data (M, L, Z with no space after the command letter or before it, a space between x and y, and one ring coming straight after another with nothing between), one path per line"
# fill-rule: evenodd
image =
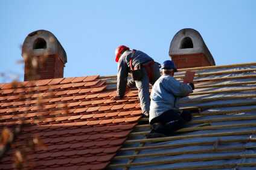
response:
M214 69L214 70L203 70L203 71L196 71L197 73L210 73L216 71L229 71L229 70L242 70L246 68L256 68L255 65L249 67L235 67L235 68L221 68L221 69ZM178 72L179 74L184 74ZM194 80L198 79L210 79L210 78L217 78L217 77L231 77L231 76L242 76L242 75L255 75L254 72L245 72L245 73L235 73L235 74L222 74L222 75L213 75L213 76L206 76L206 77L195 77ZM243 88L255 88L256 85L246 84L240 86L225 86L225 84L232 83L232 82L249 82L255 81L255 78L250 79L232 79L232 80L223 80L220 82L211 82L207 83L207 85L214 85L214 84L223 84L223 87L219 88L202 88L194 90L196 92L202 91L220 91L220 90L235 90ZM235 93L220 93L220 94L204 94L200 96L189 96L184 97L180 100L193 100L193 99L214 99L216 97L230 97L230 96L243 96L243 95L251 95L255 94L256 91L245 91L245 92L235 92ZM235 104L235 103L246 103L246 102L256 102L256 98L253 99L236 99L236 100L217 100L214 102L199 102L199 103L185 103L181 104L180 107L188 107L188 106L217 106L227 104ZM220 108L210 108L202 110L203 113L209 112L217 112L217 111L231 111L237 109L256 109L255 105L245 105L245 106L229 106L229 107L220 107ZM219 119L219 118L234 118L234 117L248 117L248 116L255 116L256 112L237 112L231 114L222 114L222 115L205 115L203 117L193 117L192 120L205 120L205 119ZM255 123L256 119L251 120L231 120L231 121L216 121L211 122L211 126L220 126L220 125L232 125L232 124L249 124ZM195 126L196 124L186 124L185 127ZM144 131L148 131L149 129L145 129ZM187 132L187 133L177 133L173 136L184 136L184 135L199 135L199 134L207 134L207 133L220 133L220 132L241 132L246 130L254 130L256 132L255 126L248 126L248 127L234 127L234 128L223 128L223 129L211 129L211 130L199 130L195 132ZM143 131L139 129L139 131ZM136 132L136 129L133 131ZM161 142L146 142L145 146L156 146L156 145L166 145L166 144L182 144L187 142L202 142L202 141L217 141L219 136L214 137L205 137L205 138L190 138L190 139L179 139L173 141L161 141ZM143 139L144 136L129 136L127 140L133 139ZM220 140L228 140L228 139L248 139L248 138L256 138L254 133L248 135L226 135L220 136ZM139 143L136 144L124 144L122 148L130 148L130 147L138 147ZM151 161L162 161L162 160L172 160L172 159L188 159L188 158L195 158L195 157L222 157L226 155L245 155L245 154L256 154L256 142L233 142L233 143L226 143L226 144L218 144L217 148L229 148L229 147L249 147L255 146L255 148L250 148L248 150L237 150L237 151L222 151L222 152L212 152L212 153L198 153L198 154L179 154L179 155L171 155L171 156L156 156L156 157L143 157L137 158L133 161L136 162L151 162ZM206 150L206 149L213 149L213 145L196 145L196 146L187 146L187 147L178 147L178 148L161 148L157 150L141 150L139 154L153 154L153 153L165 153L165 152L173 152L173 151L186 151L186 150ZM124 156L124 155L132 155L134 151L127 151L127 152L118 152L116 156ZM127 163L129 159L120 159L120 160L112 160L110 164L119 164L119 163ZM220 165L220 164L232 164L232 163L249 163L249 162L256 162L256 157L248 157L248 158L240 158L240 159L221 159L221 160L203 160L203 161L196 161L196 162L180 162L180 163L166 163L166 164L158 164L158 165L144 165L144 166L132 166L129 169L162 169L162 168L179 168L184 166L207 166L207 165ZM123 169L123 168L114 168L114 169ZM237 167L237 168L217 168L217 169L256 169L256 167L246 166L246 167Z

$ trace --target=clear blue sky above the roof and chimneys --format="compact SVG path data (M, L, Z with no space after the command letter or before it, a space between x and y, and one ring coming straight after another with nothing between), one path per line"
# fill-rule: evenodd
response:
M255 62L256 1L0 0L0 83L24 81L21 46L33 31L52 32L66 51L64 77L117 74L126 45L162 63L174 35L196 29L216 65Z

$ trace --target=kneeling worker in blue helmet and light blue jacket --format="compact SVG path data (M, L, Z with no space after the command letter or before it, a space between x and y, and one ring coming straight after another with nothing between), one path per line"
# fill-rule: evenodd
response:
M161 68L162 76L155 82L150 94L149 123L152 130L147 139L168 136L192 118L190 111L179 109L179 99L193 93L194 83L182 84L173 77L178 71L173 61L164 61Z

